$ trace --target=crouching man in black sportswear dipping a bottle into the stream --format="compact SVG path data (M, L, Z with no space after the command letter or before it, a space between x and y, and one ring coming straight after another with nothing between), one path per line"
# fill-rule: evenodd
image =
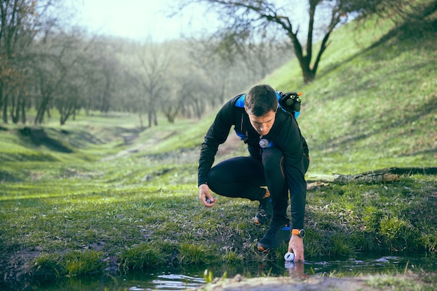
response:
M258 85L221 107L200 150L199 198L205 207L216 204L211 191L258 200L260 210L255 223L268 221L271 200L272 221L258 242L260 251L269 251L279 246L283 237L290 237L286 213L290 191L292 234L288 251L295 253L295 262L303 262L308 147L297 126L295 112L279 107L279 98L281 94L269 85ZM247 144L250 156L230 158L212 167L218 145L225 142L232 126Z

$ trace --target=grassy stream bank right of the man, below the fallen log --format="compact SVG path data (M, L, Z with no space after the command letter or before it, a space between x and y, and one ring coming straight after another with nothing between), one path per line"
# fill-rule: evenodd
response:
M427 239L429 223L435 221L437 200L429 193L435 177L403 177L388 185L333 185L311 193L308 225L325 234L325 248L312 255L346 255L353 251L434 253L434 241ZM431 228L434 228L431 226ZM321 238L319 238L321 239Z

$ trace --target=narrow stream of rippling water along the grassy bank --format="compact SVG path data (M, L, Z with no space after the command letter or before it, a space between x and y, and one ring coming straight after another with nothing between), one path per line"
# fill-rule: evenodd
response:
M301 266L301 267L298 267ZM190 268L163 268L154 272L136 272L128 275L94 276L91 278L70 278L52 282L45 286L30 285L25 290L38 291L175 291L193 290L205 283L203 274L205 269L212 271L214 277L220 277L227 272L228 278L236 274L246 277L257 276L290 276L305 278L315 274L334 274L334 276L357 276L359 274L402 274L408 271L437 271L436 258L417 256L377 256L369 257L357 255L350 258L323 258L320 260L306 260L305 264L286 264L284 260L251 263L240 266L202 266Z

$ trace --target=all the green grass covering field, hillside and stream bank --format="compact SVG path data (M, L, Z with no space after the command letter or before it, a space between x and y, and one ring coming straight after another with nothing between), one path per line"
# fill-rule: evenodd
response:
M371 30L353 25L333 33L312 84L290 82L302 79L295 60L262 81L304 92L298 120L310 145L308 176L436 166L436 33L376 43L387 22ZM130 114L78 115L67 126L53 117L39 143L23 126L2 125L1 278L282 258L286 245L268 255L255 251L266 231L251 223L255 202L218 197L213 209L200 206L198 151L214 115L160 119L141 133ZM123 135L138 137L124 144ZM235 153L246 150L240 145ZM435 256L436 209L435 176L321 186L307 193L306 258Z

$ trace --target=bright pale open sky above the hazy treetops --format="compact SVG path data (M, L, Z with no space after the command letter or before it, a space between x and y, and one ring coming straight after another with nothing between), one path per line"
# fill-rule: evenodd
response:
M190 5L182 13L177 11L178 0L82 0L77 1L79 21L89 31L135 40L161 42L192 36L209 29L211 22L203 17L205 8Z

